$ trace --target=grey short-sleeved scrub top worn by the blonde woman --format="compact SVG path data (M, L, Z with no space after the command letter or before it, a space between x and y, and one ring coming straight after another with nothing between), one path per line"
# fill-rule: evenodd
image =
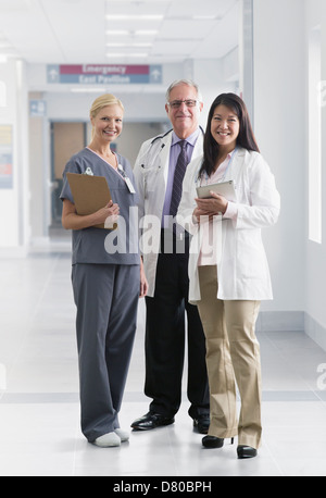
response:
M126 176L135 187L135 178L127 159L116 154L118 164L122 165ZM73 232L72 262L100 263L100 264L139 264L138 244L138 195L131 194L123 176L110 166L103 159L85 148L73 155L63 172L63 187L60 198L68 199L74 203L74 198L66 178L66 173L83 174L91 171L95 176L106 178L113 202L120 207L117 228L89 227Z

